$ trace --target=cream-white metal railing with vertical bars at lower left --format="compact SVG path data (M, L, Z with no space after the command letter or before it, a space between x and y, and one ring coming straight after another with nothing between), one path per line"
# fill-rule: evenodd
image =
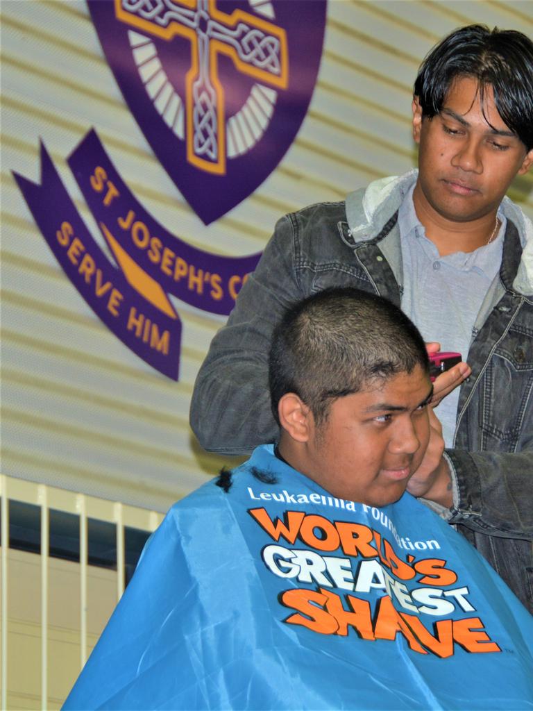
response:
M65 513L75 513L80 518L80 670L87 661L87 569L88 541L87 520L113 523L117 531L117 602L124 592L124 528L126 526L154 531L163 515L117 501L106 501L85 494L36 484L22 479L0 475L1 527L0 527L0 622L1 622L1 709L8 708L8 665L9 665L9 501L21 501L38 506L41 510L41 708L48 708L48 591L50 583L50 508ZM37 602L37 601L36 601ZM53 660L51 660L53 663Z

